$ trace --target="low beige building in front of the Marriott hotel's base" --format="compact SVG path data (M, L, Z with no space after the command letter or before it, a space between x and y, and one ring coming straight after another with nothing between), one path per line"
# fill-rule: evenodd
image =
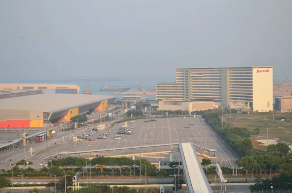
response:
M187 111L197 111L197 110L208 110L218 108L211 101L200 101L200 102L181 102L181 101L159 101L158 110L187 110Z

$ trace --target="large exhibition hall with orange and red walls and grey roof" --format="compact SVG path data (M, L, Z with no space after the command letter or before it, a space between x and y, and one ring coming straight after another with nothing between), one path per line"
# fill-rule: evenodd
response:
M83 94L48 94L42 90L0 93L0 128L49 127L69 122L72 117L89 111L102 111L115 97ZM1 97L1 94L5 97Z

